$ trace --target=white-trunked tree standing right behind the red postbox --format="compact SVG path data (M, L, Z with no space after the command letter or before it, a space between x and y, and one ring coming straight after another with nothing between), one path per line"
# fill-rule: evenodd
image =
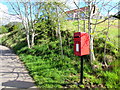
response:
M95 53L94 53L94 46L93 46L93 41L94 41L94 36L96 31L96 27L97 25L104 23L106 20L108 20L109 18L111 18L112 16L108 16L105 19L101 19L101 10L105 9L106 10L106 6L109 6L110 8L108 8L109 12L112 11L114 8L116 8L118 6L118 4L112 6L110 5L110 3L112 2L112 0L109 1L104 1L104 0L83 0L85 5L87 6L88 10L87 11L82 11L85 14L85 17L88 19L88 33L90 34L90 63L92 64L92 62L95 60ZM79 6L76 4L75 0L73 0L73 3L76 5L76 7L78 8ZM99 6L99 9L97 9ZM80 5L82 6L82 5ZM79 8L78 8L79 9ZM87 12L87 13L86 13ZM97 12L97 13L96 13ZM105 11L107 12L107 10ZM80 18L80 17L79 17ZM94 22L93 22L94 19ZM81 23L79 23L81 24ZM84 25L84 27L86 27L87 25ZM108 24L108 27L110 25ZM104 30L106 30L107 28L105 27ZM103 30L101 30L103 31Z

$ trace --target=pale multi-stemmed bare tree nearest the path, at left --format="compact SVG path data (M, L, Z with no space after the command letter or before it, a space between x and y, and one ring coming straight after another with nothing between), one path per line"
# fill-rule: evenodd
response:
M40 8L38 7L37 2L31 2L31 0L28 2L16 0L16 2L9 1L9 4L13 11L19 16L18 18L22 20L28 47L32 48L34 46L35 36L38 35L34 28L34 25L37 23L40 16ZM39 6L40 5L41 3L39 3Z

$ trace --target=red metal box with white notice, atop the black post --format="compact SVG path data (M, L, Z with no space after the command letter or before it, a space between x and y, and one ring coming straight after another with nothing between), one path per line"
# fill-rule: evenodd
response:
M88 55L90 53L89 40L90 36L88 33L74 33L74 54L76 56Z

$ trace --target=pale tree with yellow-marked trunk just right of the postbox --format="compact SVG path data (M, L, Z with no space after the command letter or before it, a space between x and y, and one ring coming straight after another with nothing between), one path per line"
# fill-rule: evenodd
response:
M104 1L99 1L98 3L102 2L101 3L101 9L102 8L105 8L105 6L109 5L109 3L111 2L112 0L109 0L108 2L104 2ZM92 60L95 60L95 55L94 55L94 47L93 47L93 40L94 40L94 33L96 32L96 26L98 24L101 24L101 23L104 23L106 20L108 20L108 29L109 29L109 18L111 18L112 16L108 16L108 18L105 18L104 20L102 21L99 21L99 15L100 15L100 9L99 9L99 14L97 15L96 17L96 22L94 23L93 25L93 22L92 22L92 16L94 13L91 13L93 12L92 10L92 5L97 5L98 4L96 2L96 0L93 0L93 1L90 1L88 0L88 7L89 7L89 17L88 17L88 30L89 30L89 34L90 34L90 61L92 62ZM109 9L109 12L114 9L116 7L115 6L111 6L111 8ZM106 11L107 12L107 11ZM109 15L109 14L108 14ZM93 27L93 28L92 28ZM107 34L108 35L108 34ZM106 45L105 45L106 47ZM104 53L106 51L104 50Z

